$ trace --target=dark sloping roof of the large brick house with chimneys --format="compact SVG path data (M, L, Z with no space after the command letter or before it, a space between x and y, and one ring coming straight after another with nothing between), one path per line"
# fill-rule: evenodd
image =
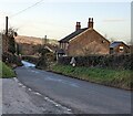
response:
M69 34L65 38L63 38L62 40L60 40L59 42L69 42L71 39L73 39L74 36L79 35L80 33L82 33L83 31L85 31L88 29L89 28L84 28L84 29L80 29L78 31L74 31L71 34Z

